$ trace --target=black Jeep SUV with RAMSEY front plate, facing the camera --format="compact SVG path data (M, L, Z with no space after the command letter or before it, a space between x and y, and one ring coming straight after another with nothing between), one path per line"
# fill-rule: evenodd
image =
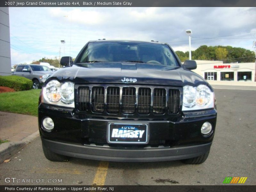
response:
M97 40L60 64L39 98L47 159L206 160L217 111L195 61L182 65L164 43Z

